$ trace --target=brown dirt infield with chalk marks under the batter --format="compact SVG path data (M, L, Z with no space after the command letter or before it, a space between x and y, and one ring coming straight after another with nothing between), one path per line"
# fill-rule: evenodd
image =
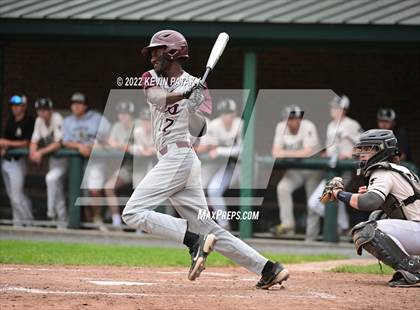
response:
M343 262L288 266L270 291L243 268L0 265L1 309L420 309L420 289L389 288L389 276L323 272ZM348 263L348 262L347 262Z

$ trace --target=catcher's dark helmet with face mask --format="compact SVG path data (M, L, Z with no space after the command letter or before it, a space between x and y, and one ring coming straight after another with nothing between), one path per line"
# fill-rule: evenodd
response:
M371 147L376 153L368 160L360 160L363 152L368 152L366 148ZM366 176L369 169L383 161L389 161L395 155L398 155L398 141L392 130L371 129L365 131L360 136L360 141L354 146L353 157L359 160L358 174Z

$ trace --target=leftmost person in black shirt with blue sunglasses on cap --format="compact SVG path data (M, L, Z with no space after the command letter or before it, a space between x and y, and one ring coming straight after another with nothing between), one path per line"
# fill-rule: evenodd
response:
M12 115L7 121L4 136L0 139L1 172L12 205L13 225L22 226L30 224L33 219L32 204L24 192L26 159L21 155L9 155L7 150L28 146L35 120L27 115L26 96L12 96L9 104Z

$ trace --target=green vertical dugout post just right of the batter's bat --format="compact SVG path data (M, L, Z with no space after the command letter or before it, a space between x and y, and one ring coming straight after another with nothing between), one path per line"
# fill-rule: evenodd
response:
M254 130L255 112L254 104L256 98L257 79L257 56L255 52L246 52L244 60L243 88L249 90L247 100L244 100L244 139L241 161L241 198L240 211L243 214L252 210L252 196L254 194ZM246 99L246 98L245 98ZM241 238L252 237L252 222L241 219L239 222L239 234Z

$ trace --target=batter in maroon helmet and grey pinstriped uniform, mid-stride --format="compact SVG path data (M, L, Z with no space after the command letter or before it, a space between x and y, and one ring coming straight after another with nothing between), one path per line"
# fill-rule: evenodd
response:
M204 132L204 118L197 110L210 112L211 101L203 86L191 86L197 79L182 69L181 61L188 58L184 36L173 30L159 31L143 54L151 56L154 68L142 75L142 85L151 109L159 161L133 192L123 211L123 220L134 228L188 246L192 260L190 280L204 270L206 257L213 248L248 270L262 274L259 288L286 280L289 274L279 263L267 260L210 218L199 218L199 213L208 212L208 207L201 186L201 163L190 146L188 131ZM168 78L170 83L160 77ZM167 199L181 218L154 211Z

